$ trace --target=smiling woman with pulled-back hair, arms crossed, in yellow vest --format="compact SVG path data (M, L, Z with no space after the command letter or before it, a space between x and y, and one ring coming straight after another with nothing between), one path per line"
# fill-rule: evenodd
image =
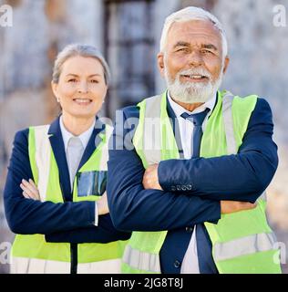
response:
M112 129L97 117L108 82L108 64L95 47L65 47L52 80L61 115L16 133L5 184L5 214L17 234L12 273L119 272L129 234L108 214Z

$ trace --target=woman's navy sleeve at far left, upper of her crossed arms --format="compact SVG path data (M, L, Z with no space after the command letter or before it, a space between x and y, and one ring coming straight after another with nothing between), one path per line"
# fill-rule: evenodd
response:
M49 234L93 225L94 202L42 203L22 195L22 179L33 179L27 135L28 130L19 131L15 135L5 183L5 216L12 232L22 235Z

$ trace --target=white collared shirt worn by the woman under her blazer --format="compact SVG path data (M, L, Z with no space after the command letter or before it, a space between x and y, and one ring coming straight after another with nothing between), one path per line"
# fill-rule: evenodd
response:
M82 133L79 136L74 136L70 133L64 126L63 118L60 117L60 130L62 133L62 138L64 141L67 165L69 170L69 177L70 177L70 186L71 190L73 190L73 183L74 178L77 173L77 168L83 156L83 153L87 147L87 143L92 135L92 132L95 128L95 122L91 125L91 127ZM95 222L94 224L98 225L98 208L97 204L95 205Z

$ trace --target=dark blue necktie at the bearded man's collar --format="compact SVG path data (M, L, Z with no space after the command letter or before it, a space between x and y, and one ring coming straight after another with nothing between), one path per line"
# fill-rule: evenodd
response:
M193 137L192 137L192 149L193 149L192 158L199 157L200 155L201 138L203 135L202 123L208 112L209 112L209 109L206 109L204 111L201 111L199 113L194 113L191 115L188 114L187 112L184 112L181 114L181 117L183 119L190 120L194 125Z

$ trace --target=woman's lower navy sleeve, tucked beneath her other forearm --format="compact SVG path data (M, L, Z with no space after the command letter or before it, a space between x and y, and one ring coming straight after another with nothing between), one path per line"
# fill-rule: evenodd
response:
M48 243L70 243L70 244L107 244L118 240L127 240L130 233L116 230L112 224L109 214L101 215L98 219L98 226L78 228L46 235Z

